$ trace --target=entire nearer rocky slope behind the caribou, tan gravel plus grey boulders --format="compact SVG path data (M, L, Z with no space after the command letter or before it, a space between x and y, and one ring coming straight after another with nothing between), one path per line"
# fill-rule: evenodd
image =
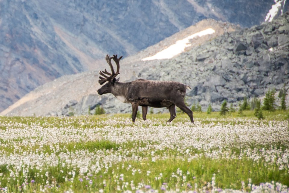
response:
M171 59L143 61L180 39L205 29L215 33L190 39L190 46ZM137 78L174 80L191 86L187 102L218 110L227 100L235 107L244 97L262 98L268 89L289 89L289 13L249 29L203 20L196 26L121 60L120 81ZM222 36L220 36L223 34ZM108 65L103 59L104 70ZM1 114L68 116L93 113L100 104L108 113L131 112L113 95L97 94L98 71L63 76L38 87ZM287 104L289 102L287 95ZM155 112L167 111L154 109Z

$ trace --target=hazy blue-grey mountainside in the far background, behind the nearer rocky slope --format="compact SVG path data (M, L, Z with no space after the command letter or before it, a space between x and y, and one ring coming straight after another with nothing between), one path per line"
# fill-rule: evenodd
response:
M133 55L205 18L250 27L264 21L272 5L273 0L2 0L0 111L45 82L98 69L107 53ZM287 4L278 14L286 10Z

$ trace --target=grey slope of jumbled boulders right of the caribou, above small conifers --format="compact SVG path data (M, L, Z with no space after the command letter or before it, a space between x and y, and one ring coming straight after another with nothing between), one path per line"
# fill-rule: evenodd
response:
M244 97L262 98L268 89L289 89L288 33L287 12L272 22L225 33L138 76L191 86L188 104L199 102L203 110L209 104L219 110L224 100L237 106Z

